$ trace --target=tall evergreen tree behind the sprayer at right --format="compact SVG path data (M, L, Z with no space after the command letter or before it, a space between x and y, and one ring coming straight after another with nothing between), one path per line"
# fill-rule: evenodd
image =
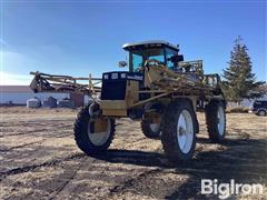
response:
M251 61L248 56L248 48L243 43L240 37L235 40L235 46L230 52L229 67L224 70L222 89L227 99L240 102L249 90L254 90L263 82L257 82L255 73L251 71Z

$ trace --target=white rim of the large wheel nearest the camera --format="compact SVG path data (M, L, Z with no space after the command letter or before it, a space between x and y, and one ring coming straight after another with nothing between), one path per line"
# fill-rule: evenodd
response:
M182 110L177 122L178 146L182 153L188 153L192 146L194 124L189 111Z

